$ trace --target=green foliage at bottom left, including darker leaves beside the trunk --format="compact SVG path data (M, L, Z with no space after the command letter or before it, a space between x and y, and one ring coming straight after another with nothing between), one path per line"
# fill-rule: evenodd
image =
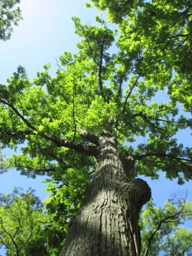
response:
M6 248L6 255L57 255L69 222L55 197L47 200L46 210L34 190L15 188L12 194L0 194L0 248Z

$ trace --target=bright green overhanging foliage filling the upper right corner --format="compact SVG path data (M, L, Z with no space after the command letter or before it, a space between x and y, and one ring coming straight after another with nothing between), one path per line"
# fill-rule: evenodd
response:
M171 98L191 111L191 1L92 2L119 24L122 56L137 58L132 68L153 86L166 85Z

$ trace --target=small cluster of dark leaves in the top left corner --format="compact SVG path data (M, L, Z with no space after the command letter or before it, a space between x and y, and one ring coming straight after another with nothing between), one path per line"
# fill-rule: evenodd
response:
M21 17L21 10L17 6L20 0L0 1L0 39L8 40L12 34L12 26L18 25Z

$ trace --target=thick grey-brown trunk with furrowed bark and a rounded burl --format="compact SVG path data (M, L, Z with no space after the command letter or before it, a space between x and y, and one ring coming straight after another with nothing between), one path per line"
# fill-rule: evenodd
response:
M93 183L59 256L140 255L138 219L151 189L142 179L128 181L110 136L99 138L97 163Z

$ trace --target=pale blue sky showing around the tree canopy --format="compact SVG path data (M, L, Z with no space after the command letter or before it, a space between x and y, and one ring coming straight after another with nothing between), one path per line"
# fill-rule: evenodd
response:
M17 71L17 66L26 68L30 79L37 71L43 70L43 65L52 64L52 75L57 68L57 58L64 52L75 53L77 35L74 35L74 26L71 17L77 16L90 24L94 20L95 10L85 8L84 0L21 0L23 21L15 27L8 42L0 42L0 83ZM180 133L180 140L189 143L189 133ZM35 188L41 199L45 199L45 185L41 184L44 177L27 179L12 170L0 177L0 193L11 192L15 186L28 189ZM178 186L177 181L167 181L161 175L160 180L147 179L152 188L153 198L157 205L162 206L164 201L175 192L188 191L192 197L192 182ZM0 250L1 253L1 250Z

